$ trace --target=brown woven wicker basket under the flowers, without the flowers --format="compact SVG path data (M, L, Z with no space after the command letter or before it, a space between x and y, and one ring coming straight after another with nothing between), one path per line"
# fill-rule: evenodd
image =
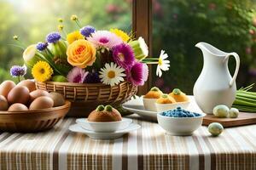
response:
M137 87L129 82L108 86L102 83L36 82L37 88L58 92L72 102L67 116L86 117L97 105L117 106L137 93Z

